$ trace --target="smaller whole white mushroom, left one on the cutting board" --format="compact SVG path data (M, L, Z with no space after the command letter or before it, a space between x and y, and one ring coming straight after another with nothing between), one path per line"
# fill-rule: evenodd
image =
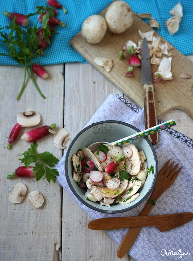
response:
M91 15L84 20L81 32L87 42L97 44L103 39L106 29L106 21L101 15Z

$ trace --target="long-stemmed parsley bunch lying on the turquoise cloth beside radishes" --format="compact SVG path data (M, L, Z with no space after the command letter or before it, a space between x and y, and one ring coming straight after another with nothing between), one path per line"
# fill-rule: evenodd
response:
M37 19L36 24L33 28L30 26L27 27L27 30L24 30L20 27L20 25L16 24L15 20L16 17L12 21L9 22L9 26L5 26L7 29L11 29L11 32L9 34L0 31L1 37L3 40L0 39L4 43L5 47L8 47L8 54L0 53L3 56L9 56L12 57L18 64L22 65L24 67L24 81L23 85L21 87L21 90L17 96L17 100L19 100L21 93L24 90L25 87L25 81L26 81L26 73L28 73L30 79L32 80L33 84L35 85L36 89L40 93L40 95L45 98L45 96L41 93L39 87L37 86L34 78L33 78L33 70L32 70L32 59L36 58L38 56L38 39L39 36L36 35L37 31L40 29L43 30L43 38L46 39L46 41L50 44L50 40L48 36L51 35L50 27L49 27L49 18L54 16L54 11L49 6L37 6L37 11L33 14L26 15L26 17L30 17L32 15L40 14L40 16L48 10L48 13L46 13L42 18L42 25L41 28L37 28L37 23L40 18ZM0 27L0 30L3 28ZM30 64L30 71L27 68L27 64Z

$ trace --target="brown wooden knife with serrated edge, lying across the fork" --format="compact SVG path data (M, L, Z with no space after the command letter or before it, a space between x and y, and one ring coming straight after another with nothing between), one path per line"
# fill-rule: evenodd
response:
M192 220L193 213L183 212L176 214L158 216L136 216L136 217L105 217L92 220L88 228L92 230L108 230L124 227L157 227L160 232L170 230Z

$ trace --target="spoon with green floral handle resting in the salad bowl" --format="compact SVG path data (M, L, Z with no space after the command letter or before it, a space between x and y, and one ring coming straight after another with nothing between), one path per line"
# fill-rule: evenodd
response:
M144 131L141 131L141 132L138 132L138 133L134 133L128 137L125 137L123 139L119 139L115 142L95 142L93 144L91 144L90 146L88 146L88 148L93 152L96 151L97 147L101 144L101 143L108 143L108 144L111 144L111 145L115 145L115 146L119 146L119 145L123 145L125 143L128 143L128 142L132 142L136 139L140 139L142 137L146 137L150 134L153 134L153 133L156 133L156 132L159 132L159 131L162 131L164 129L167 129L167 128L170 128L172 126L175 126L176 125L176 122L175 120L169 120L167 122L163 122L161 124L158 124L154 127L151 127L149 129L146 129Z

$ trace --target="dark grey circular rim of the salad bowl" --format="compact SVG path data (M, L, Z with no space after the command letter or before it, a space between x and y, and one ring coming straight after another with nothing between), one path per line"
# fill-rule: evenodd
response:
M98 209L97 207L94 207L94 206L91 206L89 204L89 202L86 202L84 201L79 195L78 193L76 192L76 190L73 188L72 184L71 184L71 181L70 181L70 178L68 176L68 158L69 158L69 154L70 154L70 150L72 148L72 145L74 144L74 142L78 139L78 137L83 133L85 132L86 130L92 128L93 126L96 126L96 125L99 125L99 124L104 124L104 123L118 123L118 124L122 124L122 125L125 125L125 126L128 126L130 127L131 129L137 131L137 132L140 132L141 130L134 127L133 125L129 124L129 123L126 123L126 122L122 122L122 121L116 121L116 120L106 120L106 121L100 121L100 122L95 122L95 123L92 123L91 125L85 127L84 129L82 129L80 132L78 132L78 134L74 137L74 139L71 141L69 147L68 147L68 150L66 152L66 156L65 156L65 176L66 176L66 181L68 183L68 186L70 187L72 193L74 194L74 196L76 196L78 198L79 201L81 201L85 206L91 208L92 210L95 210L95 211L98 211L98 212L102 212L102 213L106 213L106 214L116 214L116 213L123 213L123 212L126 212L128 210L131 210L137 206L139 206L142 202L144 202L146 200L146 198L150 195L150 193L152 192L154 186L155 186L155 183L157 181L157 175L158 175L158 160L157 160L157 155L156 155L156 152L155 152L155 149L153 147L153 145L151 144L150 140L147 138L147 137L143 137L147 143L150 145L150 148L153 152L153 157L154 157L154 160L155 160L155 170L154 170L154 178L153 178L153 182L151 184L151 187L149 188L149 190L147 191L147 193L145 194L145 196L140 200L138 201L136 204L132 205L132 207L128 207L128 208L125 208L125 209L119 209L119 210L111 210L111 213L109 213L109 209ZM67 174L67 175L66 175Z

